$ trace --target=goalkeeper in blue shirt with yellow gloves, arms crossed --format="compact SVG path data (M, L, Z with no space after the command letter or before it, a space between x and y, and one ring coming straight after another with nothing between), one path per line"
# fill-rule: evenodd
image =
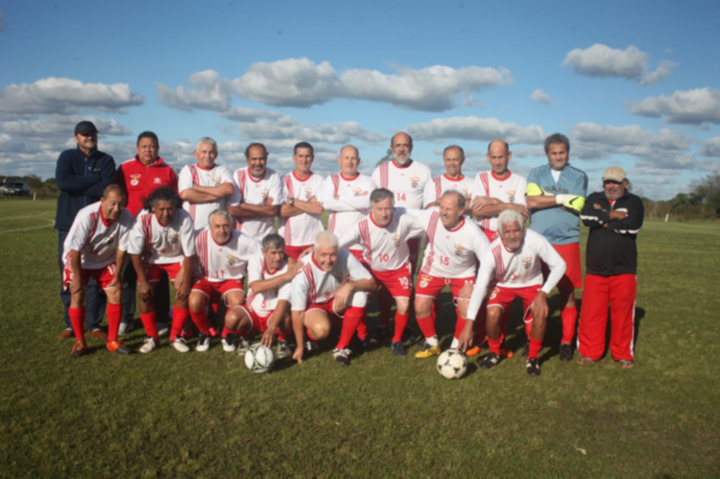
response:
M557 284L563 305L560 359L572 359L577 308L575 289L582 288L580 264L580 211L588 195L588 175L570 166L570 140L555 133L545 139L548 164L530 171L526 200L530 209L530 229L537 231L552 244L567 270Z

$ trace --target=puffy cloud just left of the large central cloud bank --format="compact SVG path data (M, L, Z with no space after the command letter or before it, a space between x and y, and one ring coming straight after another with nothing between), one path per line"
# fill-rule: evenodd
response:
M158 101L168 107L192 111L194 109L210 109L222 112L230 107L232 86L227 79L221 79L215 70L205 70L190 76L192 89L178 86L175 91L156 81Z

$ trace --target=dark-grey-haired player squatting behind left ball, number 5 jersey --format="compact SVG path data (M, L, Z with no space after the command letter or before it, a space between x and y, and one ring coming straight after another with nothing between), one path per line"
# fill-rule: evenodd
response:
M262 333L261 344L272 347L277 333L278 359L291 354L287 335L292 330L290 299L292 278L301 264L285 254L285 240L271 233L262 242L262 253L248 261L248 296L236 315L226 318L230 331L243 329L249 333ZM244 352L243 352L244 354Z

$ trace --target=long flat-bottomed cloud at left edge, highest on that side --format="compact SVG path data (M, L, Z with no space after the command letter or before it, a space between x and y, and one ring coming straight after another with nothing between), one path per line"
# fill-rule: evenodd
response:
M143 96L125 83L101 84L49 77L32 84L10 84L0 91L4 118L58 113L72 115L84 110L122 111L143 104Z

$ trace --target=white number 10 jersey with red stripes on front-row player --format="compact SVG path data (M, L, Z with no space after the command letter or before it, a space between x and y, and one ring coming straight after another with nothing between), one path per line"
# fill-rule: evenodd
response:
M406 215L404 208L397 208L390 224L379 226L372 219L372 213L353 225L339 240L339 246L359 243L362 246L362 261L374 271L395 271L408 261L410 249L408 239L422 236L425 229L422 221L413 215Z

